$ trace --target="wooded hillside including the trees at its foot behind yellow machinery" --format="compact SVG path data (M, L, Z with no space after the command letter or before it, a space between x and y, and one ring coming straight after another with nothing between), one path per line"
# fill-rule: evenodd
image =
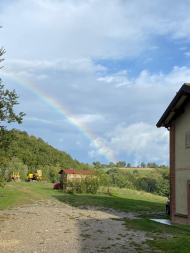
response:
M12 171L19 171L24 180L27 173L41 169L43 177L55 182L60 168L89 169L89 165L72 159L66 152L53 148L25 131L0 131L0 176L3 174L6 180Z

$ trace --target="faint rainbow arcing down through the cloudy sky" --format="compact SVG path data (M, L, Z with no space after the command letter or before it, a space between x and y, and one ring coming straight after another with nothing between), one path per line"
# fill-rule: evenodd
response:
M40 90L39 88L36 88L34 85L32 85L28 80L21 80L19 77L15 77L13 73L2 71L2 74L9 78L10 80L16 82L18 85L23 87L28 92L34 94L38 99L43 101L45 104L53 108L57 113L59 113L61 116L63 116L70 124L72 124L75 129L80 132L89 142L91 145L93 145L98 153L100 155L103 155L106 159L106 161L109 163L115 162L116 159L113 155L113 152L108 152L108 149L105 147L105 145L98 140L97 136L92 134L85 126L84 124L81 124L74 115L64 106L62 103L57 101L57 99L53 98L52 96L48 95L44 91Z

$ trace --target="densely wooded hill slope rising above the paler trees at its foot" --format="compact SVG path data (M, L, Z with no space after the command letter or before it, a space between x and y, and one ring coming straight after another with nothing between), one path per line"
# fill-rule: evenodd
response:
M73 160L66 152L53 148L41 138L30 136L25 131L3 130L0 145L4 147L0 148L1 163L8 161L11 157L17 157L29 169L37 166L56 166L57 164L63 168L74 169L86 166Z

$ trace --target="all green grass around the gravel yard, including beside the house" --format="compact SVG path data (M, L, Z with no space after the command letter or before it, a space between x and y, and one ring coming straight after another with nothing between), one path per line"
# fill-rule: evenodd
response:
M71 206L103 206L125 212L150 211L141 215L141 219L126 219L126 229L142 230L150 237L145 243L152 247L152 252L190 252L190 226L168 226L150 220L151 218L169 218L154 212L165 211L166 198L130 189L110 188L110 195L106 189L101 194L63 194L61 190L53 190L53 184L38 183L7 183L0 188L0 209L6 210L18 205L33 203L37 200L56 198ZM136 245L137 248L140 245ZM156 250L155 250L156 249Z

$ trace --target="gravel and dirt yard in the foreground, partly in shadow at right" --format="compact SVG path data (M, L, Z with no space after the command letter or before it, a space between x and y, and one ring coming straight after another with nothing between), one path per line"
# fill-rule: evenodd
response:
M100 207L74 208L55 199L0 211L0 252L139 252L135 243L148 252L142 243L148 239L145 233L128 230L118 220L123 217L135 218Z

